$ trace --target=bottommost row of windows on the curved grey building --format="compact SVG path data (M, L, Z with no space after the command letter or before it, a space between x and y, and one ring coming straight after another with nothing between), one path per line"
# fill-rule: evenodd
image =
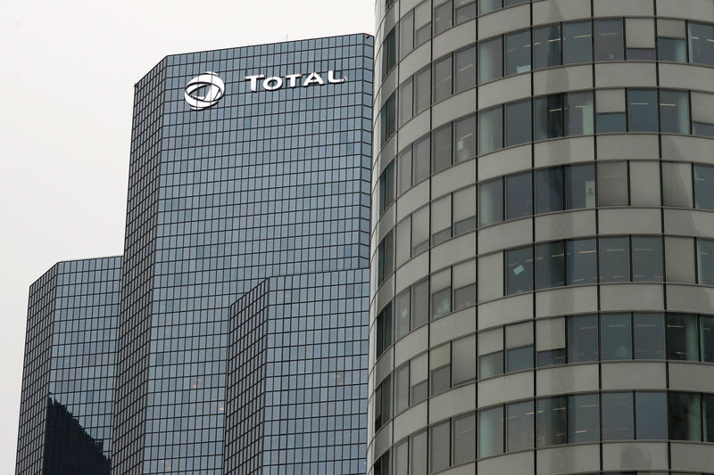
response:
M394 446L391 462L394 473L423 475L534 447L667 439L714 442L714 395L623 391L498 405L412 434ZM375 464L375 474L390 473L389 455Z

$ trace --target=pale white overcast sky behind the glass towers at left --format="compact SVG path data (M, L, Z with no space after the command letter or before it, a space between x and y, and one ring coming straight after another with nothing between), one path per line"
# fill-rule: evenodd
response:
M29 284L123 250L137 80L170 53L374 28L374 0L4 2L0 473L14 471Z

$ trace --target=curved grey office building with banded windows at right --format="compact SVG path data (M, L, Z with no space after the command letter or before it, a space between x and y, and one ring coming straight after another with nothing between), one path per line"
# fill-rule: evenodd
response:
M714 473L714 0L378 0L368 471Z

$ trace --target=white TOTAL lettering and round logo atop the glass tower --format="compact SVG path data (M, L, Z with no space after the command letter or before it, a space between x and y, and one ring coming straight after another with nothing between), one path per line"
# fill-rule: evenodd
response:
M324 86L326 84L341 84L347 82L347 77L338 78L334 70L328 71L327 80L317 72L310 74L288 74L285 78L271 76L265 78L264 74L246 76L245 81L250 81L250 88L253 93L258 92L258 84L264 91L277 91L286 86L288 88ZM226 93L226 85L218 74L206 71L188 81L184 89L184 99L192 111L203 111L220 102Z

